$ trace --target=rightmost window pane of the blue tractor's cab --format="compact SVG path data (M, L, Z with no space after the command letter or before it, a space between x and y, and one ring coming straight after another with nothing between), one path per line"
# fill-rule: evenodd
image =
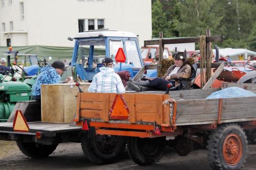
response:
M133 40L126 40L125 48L127 63L134 65L136 68L141 68L142 64L140 62L140 56L138 53L139 51L137 50L136 42Z

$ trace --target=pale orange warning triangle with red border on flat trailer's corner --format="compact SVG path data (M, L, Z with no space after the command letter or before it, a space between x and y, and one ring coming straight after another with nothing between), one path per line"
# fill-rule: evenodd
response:
M15 114L15 118L13 121L13 130L15 132L28 132L29 131L29 126L27 124L27 121L22 114L21 110L17 110Z

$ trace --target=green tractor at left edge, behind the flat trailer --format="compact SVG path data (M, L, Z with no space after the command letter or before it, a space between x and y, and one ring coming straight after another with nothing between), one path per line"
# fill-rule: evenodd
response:
M9 76L0 74L0 122L6 122L16 104L31 100L32 85L36 77L25 79L24 82L9 81Z

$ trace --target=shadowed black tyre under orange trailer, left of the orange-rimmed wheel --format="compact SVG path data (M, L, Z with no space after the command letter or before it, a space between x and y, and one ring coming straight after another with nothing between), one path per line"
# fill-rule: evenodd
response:
M139 165L155 164L163 155L165 137L127 138L127 149L131 159Z

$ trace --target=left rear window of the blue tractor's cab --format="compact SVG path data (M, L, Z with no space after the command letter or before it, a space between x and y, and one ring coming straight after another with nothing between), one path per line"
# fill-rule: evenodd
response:
M105 58L105 40L81 40L77 54L77 63L84 65L85 68L99 67Z

